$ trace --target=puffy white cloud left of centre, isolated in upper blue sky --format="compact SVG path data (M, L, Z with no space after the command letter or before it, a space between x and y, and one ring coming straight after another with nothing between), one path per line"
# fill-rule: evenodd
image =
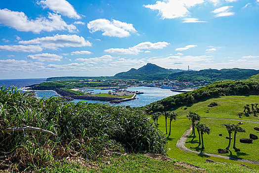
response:
M130 33L136 32L132 24L114 19L112 21L107 19L96 19L87 23L87 28L92 33L102 31L103 36L119 38L129 37Z

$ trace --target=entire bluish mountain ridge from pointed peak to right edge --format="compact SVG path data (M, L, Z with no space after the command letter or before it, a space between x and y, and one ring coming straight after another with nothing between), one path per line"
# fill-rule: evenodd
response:
M200 71L165 69L155 64L148 63L139 69L130 69L128 72L116 74L117 79L139 79L139 80L160 80L169 78L180 82L206 81L211 84L222 80L241 80L248 79L253 75L259 74L259 70L253 69L205 69Z

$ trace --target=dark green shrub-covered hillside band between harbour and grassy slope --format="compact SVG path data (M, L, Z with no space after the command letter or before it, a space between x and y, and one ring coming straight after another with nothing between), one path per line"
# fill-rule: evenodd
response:
M223 95L259 94L259 81L257 76L249 80L219 81L212 85L201 87L194 91L173 95L145 106L148 113L163 112L172 108L190 105L203 99Z

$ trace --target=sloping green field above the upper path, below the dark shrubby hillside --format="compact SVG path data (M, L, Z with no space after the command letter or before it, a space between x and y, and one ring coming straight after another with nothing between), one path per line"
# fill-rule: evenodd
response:
M212 102L216 102L218 106L208 107ZM240 119L238 113L244 111L246 104L259 103L259 95L249 96L222 96L218 98L208 99L193 105L182 106L175 110L179 115L178 118L186 118L189 111L196 112L202 118L227 118L227 119ZM251 106L250 106L251 107ZM207 113L208 112L208 113ZM256 121L259 122L259 117L251 114L249 117L242 116L240 120Z

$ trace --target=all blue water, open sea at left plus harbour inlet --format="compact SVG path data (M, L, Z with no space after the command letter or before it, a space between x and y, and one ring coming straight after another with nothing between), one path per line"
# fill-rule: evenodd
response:
M40 84L45 82L46 79L14 79L14 80L0 80L0 86L5 85L6 87L9 86L16 86L16 87L26 87L34 84ZM170 89L162 89L158 87L129 87L127 88L128 90L132 91L140 91L144 92L143 94L138 94L136 95L135 100L130 100L126 102L122 102L119 104L111 104L105 101L96 101L96 100L85 100L86 102L89 103L96 103L96 102L102 102L102 103L108 103L111 105L124 105L124 106L131 106L131 107L141 107L145 106L147 104L150 104L152 102L161 100L163 98L169 97L171 95L176 95L179 94L179 92L172 92ZM109 90L101 90L101 89L94 89L94 93L103 93L103 92L108 92ZM39 96L39 98L49 98L53 95L57 95L55 91L52 90L45 90L45 91L36 91L36 94ZM73 102L79 102L83 100L75 99Z

